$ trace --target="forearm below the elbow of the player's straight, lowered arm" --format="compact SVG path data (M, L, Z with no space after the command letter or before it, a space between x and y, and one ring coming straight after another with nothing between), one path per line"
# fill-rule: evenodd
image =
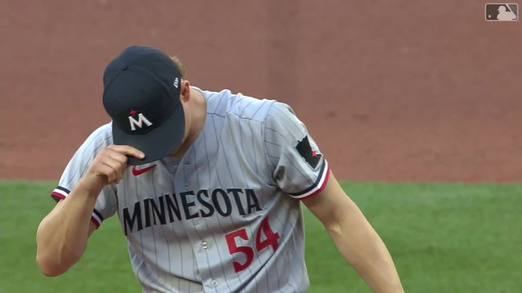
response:
M395 264L384 242L360 210L326 227L340 253L375 293L402 293Z

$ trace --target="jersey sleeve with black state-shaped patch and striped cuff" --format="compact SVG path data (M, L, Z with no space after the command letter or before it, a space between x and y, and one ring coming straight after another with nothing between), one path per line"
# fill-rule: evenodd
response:
M266 156L277 186L303 200L321 192L328 181L328 162L302 121L287 104L268 111L264 135Z

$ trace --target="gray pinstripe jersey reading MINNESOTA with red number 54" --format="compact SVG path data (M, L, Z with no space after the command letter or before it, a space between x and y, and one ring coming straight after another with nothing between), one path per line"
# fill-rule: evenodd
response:
M306 291L299 200L325 186L326 160L288 105L201 92L207 117L185 156L129 168L103 189L92 221L118 215L144 292ZM80 146L52 196L66 198L110 143L109 123Z

